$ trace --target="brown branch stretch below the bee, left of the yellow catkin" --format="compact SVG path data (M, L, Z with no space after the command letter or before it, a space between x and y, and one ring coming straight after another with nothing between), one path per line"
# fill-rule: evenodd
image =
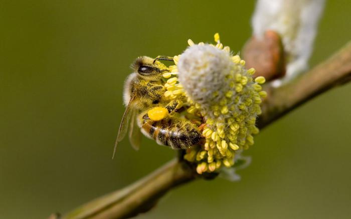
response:
M148 211L167 190L195 179L195 173L178 159L134 182L66 214L63 218L126 218Z

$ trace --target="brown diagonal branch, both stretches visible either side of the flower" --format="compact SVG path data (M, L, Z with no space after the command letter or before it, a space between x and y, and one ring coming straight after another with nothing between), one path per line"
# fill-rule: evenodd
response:
M299 78L280 87L270 84L258 126L263 128L314 96L351 80L351 43ZM125 218L149 210L166 191L196 179L183 161L172 160L139 181L97 198L63 218Z

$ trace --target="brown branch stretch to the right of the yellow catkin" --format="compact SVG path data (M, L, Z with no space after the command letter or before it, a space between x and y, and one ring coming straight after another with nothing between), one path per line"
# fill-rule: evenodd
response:
M287 84L264 89L268 98L262 104L258 127L263 128L309 99L351 80L351 42L326 61Z

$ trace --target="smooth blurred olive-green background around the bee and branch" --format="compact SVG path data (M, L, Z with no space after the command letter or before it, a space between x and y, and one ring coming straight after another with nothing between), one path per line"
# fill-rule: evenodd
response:
M174 156L125 139L111 159L122 85L140 55L194 42L239 51L254 1L1 1L0 218L46 218L144 176ZM328 1L310 64L351 39L351 2ZM351 84L264 129L242 180L199 180L140 218L349 218Z

